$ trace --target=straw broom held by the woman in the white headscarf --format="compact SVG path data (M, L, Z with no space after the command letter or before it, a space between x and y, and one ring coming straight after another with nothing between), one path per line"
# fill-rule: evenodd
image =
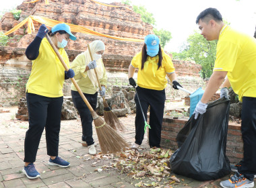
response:
M88 51L90 53L91 59L94 60L92 58L92 53L90 50L90 45L88 44ZM96 69L94 68L94 72L98 81L98 87L100 88L101 91L101 85L100 85L100 81L98 79L98 74ZM102 96L103 99L103 105L104 105L104 120L106 121L106 123L108 125L110 125L111 128L115 129L115 130L120 130L120 131L124 131L126 130L125 126L119 121L119 118L117 118L117 115L115 115L115 113L113 113L113 111L110 109L110 107L108 106L108 103L106 102L106 99L104 96Z

